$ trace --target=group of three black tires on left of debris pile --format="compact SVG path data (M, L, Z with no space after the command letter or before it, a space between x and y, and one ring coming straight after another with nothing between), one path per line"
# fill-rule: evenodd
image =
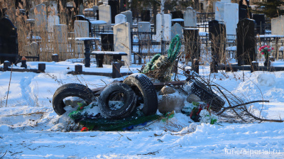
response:
M119 109L111 109L109 100L116 93L124 94L124 105ZM67 97L80 97L87 104L94 101L94 93L87 86L64 84L53 95L53 109L56 114L65 113L63 99ZM158 97L153 82L143 74L133 74L126 77L123 82L109 84L99 95L98 101L102 115L108 119L124 119L130 116L140 103L143 103L141 111L146 116L155 114L158 109Z

